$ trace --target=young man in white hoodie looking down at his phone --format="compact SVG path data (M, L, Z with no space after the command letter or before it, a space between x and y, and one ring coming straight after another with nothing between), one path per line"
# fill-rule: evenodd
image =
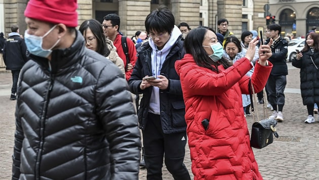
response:
M138 59L129 79L131 92L143 94L138 118L147 179L151 180L162 179L164 154L174 179L190 179L183 163L187 143L185 104L174 67L184 56L183 41L174 22L172 12L164 7L146 17L149 40L137 50Z

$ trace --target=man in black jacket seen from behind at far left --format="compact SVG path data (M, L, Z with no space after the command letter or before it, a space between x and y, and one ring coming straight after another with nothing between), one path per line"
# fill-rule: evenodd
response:
M19 73L27 61L26 46L23 38L20 37L18 25L11 26L11 33L9 33L9 38L4 44L3 55L6 69L11 70L12 73L13 83L10 99L16 100Z

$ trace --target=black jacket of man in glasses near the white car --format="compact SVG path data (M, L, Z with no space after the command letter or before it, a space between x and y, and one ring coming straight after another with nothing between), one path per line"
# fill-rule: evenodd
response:
M265 44L269 43L270 39L266 40ZM273 42L271 46L272 56L268 59L273 65L270 75L287 75L288 67L286 63L286 55L288 52L288 42L284 38L280 37L278 40Z

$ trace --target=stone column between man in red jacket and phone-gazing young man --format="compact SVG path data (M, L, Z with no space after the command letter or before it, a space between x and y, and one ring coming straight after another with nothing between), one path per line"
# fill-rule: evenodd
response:
M145 31L145 19L150 13L150 0L118 0L119 31L132 37L136 31Z

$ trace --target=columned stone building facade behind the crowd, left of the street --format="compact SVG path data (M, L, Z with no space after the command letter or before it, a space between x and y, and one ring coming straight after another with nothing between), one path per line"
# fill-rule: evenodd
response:
M67 1L67 0L65 0ZM0 31L7 36L13 24L26 29L24 9L28 0L0 0ZM121 17L120 31L128 36L145 30L146 16L160 5L167 6L174 14L176 24L187 22L191 28L204 25L217 29L217 20L226 18L229 30L240 37L242 31L265 28L263 6L268 0L77 0L78 24L87 19L102 22L108 13Z

